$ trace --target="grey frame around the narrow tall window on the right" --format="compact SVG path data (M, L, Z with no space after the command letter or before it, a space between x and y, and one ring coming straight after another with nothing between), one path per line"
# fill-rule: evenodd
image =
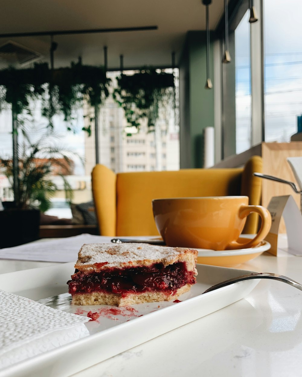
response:
M231 63L222 63L225 39L224 15L215 30L213 76L216 163L236 155L234 33L244 14L249 9L249 4L249 0L231 0L229 2L229 49L233 49ZM254 0L254 6L258 9L260 17L256 23L250 24L251 148L265 139L263 0ZM231 95L229 90L226 90L226 86L229 85L233 86Z

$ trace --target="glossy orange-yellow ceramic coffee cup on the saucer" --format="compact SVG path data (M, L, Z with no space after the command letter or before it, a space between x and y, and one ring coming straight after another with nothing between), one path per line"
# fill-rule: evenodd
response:
M269 233L269 211L248 203L247 196L206 196L154 199L152 208L156 227L168 246L226 250L256 246ZM252 212L261 217L260 230L253 239L237 242Z

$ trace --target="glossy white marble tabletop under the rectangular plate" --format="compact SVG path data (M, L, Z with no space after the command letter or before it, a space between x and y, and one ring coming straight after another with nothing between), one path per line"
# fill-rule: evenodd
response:
M11 270L50 265L0 261ZM302 257L268 253L237 268L302 282ZM3 272L3 270L2 270ZM8 272L8 271L6 271ZM73 377L301 376L302 292L262 280L246 297Z

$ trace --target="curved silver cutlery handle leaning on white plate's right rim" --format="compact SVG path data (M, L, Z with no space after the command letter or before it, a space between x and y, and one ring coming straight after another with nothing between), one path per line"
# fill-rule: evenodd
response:
M237 277L233 277L232 279L225 280L221 283L215 284L212 287L208 288L205 290L203 293L208 293L211 291L214 291L215 289L226 287L228 285L243 281L243 280L250 280L250 279L272 279L272 280L279 280L280 282L287 283L289 285L292 285L295 288L298 288L300 291L302 291L302 284L290 279L287 276L283 275L278 275L278 274L273 274L270 272L255 272L252 274L247 274L247 275L241 275ZM202 293L202 294L203 294Z

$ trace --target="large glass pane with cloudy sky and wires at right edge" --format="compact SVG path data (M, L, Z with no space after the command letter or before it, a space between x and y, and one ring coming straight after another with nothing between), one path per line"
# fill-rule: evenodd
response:
M264 0L266 141L290 141L302 114L301 12L300 0Z

